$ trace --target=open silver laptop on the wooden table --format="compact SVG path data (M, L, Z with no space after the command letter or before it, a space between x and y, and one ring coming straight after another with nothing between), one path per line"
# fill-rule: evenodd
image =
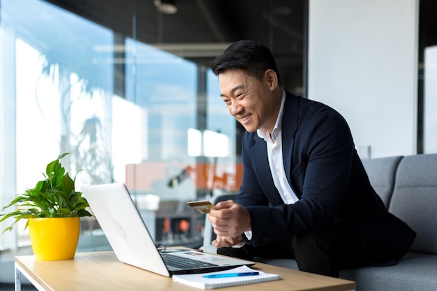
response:
M168 277L255 264L199 251L161 253L124 184L82 186L82 193L120 262ZM189 260L190 264L195 264L189 267L175 266L168 262L170 259Z

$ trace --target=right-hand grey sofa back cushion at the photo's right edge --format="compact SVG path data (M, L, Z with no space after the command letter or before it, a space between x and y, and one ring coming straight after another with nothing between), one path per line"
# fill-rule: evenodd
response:
M437 154L401 160L389 211L417 232L410 251L437 254Z

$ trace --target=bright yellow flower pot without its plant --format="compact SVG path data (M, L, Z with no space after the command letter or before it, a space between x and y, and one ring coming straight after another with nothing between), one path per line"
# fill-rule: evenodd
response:
M80 217L29 218L29 232L36 260L70 260L79 241Z

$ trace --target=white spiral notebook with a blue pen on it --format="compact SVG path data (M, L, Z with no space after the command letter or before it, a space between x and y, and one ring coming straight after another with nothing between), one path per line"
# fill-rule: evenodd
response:
M259 274L255 276L231 276L224 278L205 278L216 274L237 274L256 271ZM216 288L224 288L237 285L246 285L253 283L261 283L267 281L279 280L278 274L269 274L258 270L253 270L247 266L237 267L226 271L216 271L208 274L189 274L189 275L173 275L173 281L185 285L190 285L195 288L209 290Z

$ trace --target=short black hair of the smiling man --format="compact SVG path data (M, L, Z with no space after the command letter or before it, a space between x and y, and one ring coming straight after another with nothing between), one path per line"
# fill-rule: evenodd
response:
M239 40L232 43L223 54L212 61L210 67L216 75L228 69L242 69L258 80L262 79L266 70L272 69L278 77L278 83L281 84L281 76L272 52L255 40Z

